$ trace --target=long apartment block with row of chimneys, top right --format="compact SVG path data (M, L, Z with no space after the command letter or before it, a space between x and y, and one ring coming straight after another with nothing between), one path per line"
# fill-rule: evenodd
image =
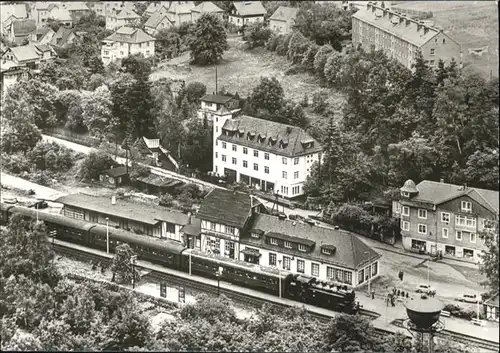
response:
M352 15L352 43L383 50L410 70L418 52L430 67L437 67L439 59L457 64L462 60L460 44L441 29L377 2L368 2Z

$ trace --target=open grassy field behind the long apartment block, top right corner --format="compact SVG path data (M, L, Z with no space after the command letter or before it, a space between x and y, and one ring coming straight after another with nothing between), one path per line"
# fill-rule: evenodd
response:
M463 61L489 77L498 77L498 7L495 1L405 1L400 8L432 11L429 19L462 45ZM482 56L469 49L489 46Z

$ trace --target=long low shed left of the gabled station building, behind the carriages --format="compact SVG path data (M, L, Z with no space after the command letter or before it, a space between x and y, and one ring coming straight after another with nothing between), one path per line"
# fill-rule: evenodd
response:
M190 215L161 206L151 206L114 196L97 197L73 194L59 197L61 214L89 223L108 225L137 234L181 242L181 228L189 223Z

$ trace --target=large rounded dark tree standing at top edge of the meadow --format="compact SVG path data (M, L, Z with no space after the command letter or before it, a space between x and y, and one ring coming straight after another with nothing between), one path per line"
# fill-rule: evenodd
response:
M193 40L189 44L191 60L200 65L215 64L229 49L221 20L211 14L203 14L197 21Z

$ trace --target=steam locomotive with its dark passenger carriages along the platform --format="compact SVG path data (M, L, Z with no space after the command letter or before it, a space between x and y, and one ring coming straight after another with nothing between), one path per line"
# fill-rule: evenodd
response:
M106 226L65 217L60 214L38 212L35 209L0 203L0 224L7 224L10 215L20 214L27 219L43 221L56 238L67 242L106 250ZM326 309L355 314L359 311L355 292L346 286L320 282L314 277L278 271L275 268L249 264L244 261L206 254L188 249L179 242L135 234L123 229L108 228L109 250L127 243L138 258L176 270L204 277L219 276L220 280L262 292L278 295L280 278L282 295Z

